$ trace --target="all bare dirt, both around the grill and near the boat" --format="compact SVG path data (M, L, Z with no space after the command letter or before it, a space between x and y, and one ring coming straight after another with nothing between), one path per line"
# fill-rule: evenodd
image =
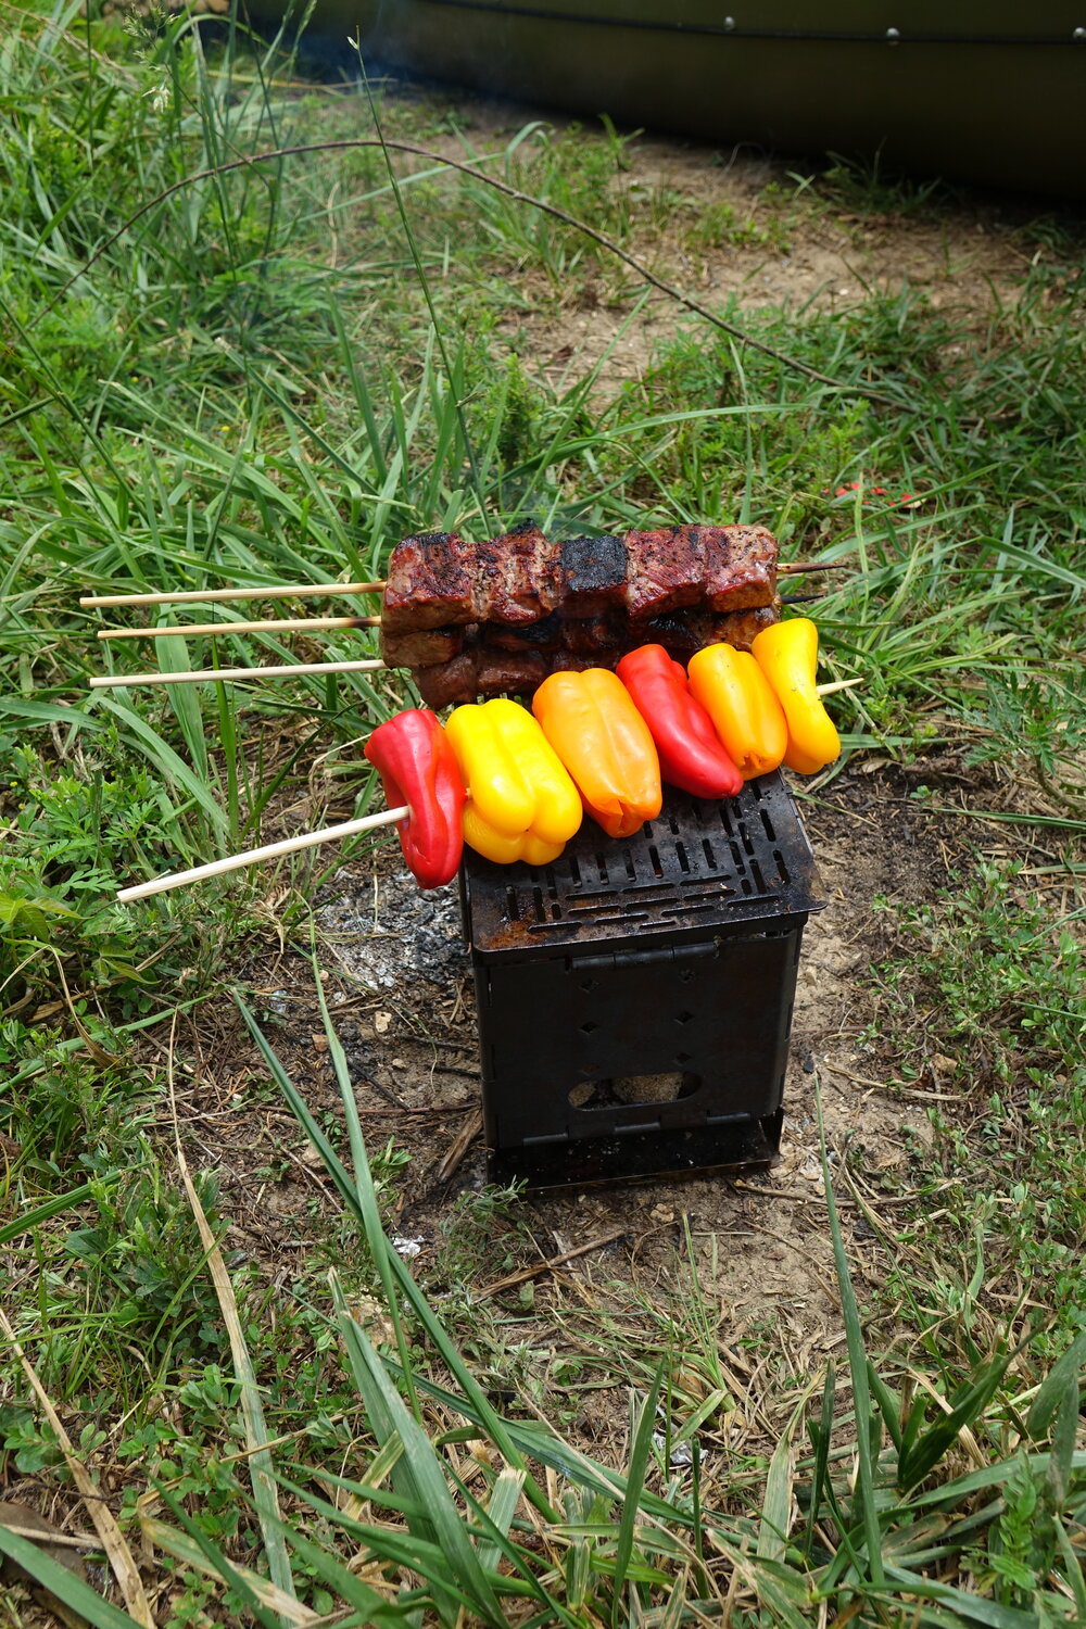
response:
M531 109L458 104L475 148L501 145ZM464 156L449 135L449 155ZM786 179L786 165L749 155L720 155L681 142L642 140L630 150L625 184L674 191L684 199L729 202L741 218L764 210L767 181ZM840 308L873 287L923 285L936 305L961 308L982 323L996 301L1016 298L1029 252L1019 230L1023 209L972 199L931 215L874 217L834 210L799 213L786 246L698 251L685 256L677 238L664 248L661 270L698 296L739 305L822 305ZM1042 252L1042 251L1036 251ZM671 261L668 261L671 254ZM666 262L666 264L664 264ZM624 336L628 306L601 298L539 314L526 305L510 321L526 326L539 368L555 383L580 376L612 345L607 380L617 388L650 363L658 337L681 319L663 295L651 295ZM948 766L949 785L954 766ZM931 780L931 769L923 779ZM936 774L938 780L938 774ZM824 792L804 800L803 814L822 875L824 912L806 930L791 1060L785 1090L780 1160L747 1176L703 1176L531 1196L537 1262L596 1249L544 1271L541 1297L555 1290L594 1293L609 1280L643 1287L674 1284L689 1222L698 1276L718 1298L725 1319L739 1326L772 1316L793 1373L843 1339L819 1166L814 1085L821 1082L830 1150L847 1144L861 1160L843 1175L842 1215L863 1295L886 1272L882 1246L856 1202L855 1184L876 1214L905 1186L910 1150L931 1135L930 1109L952 1111L939 1085L941 1060L910 1083L886 1078L865 1031L878 1007L873 963L887 951L887 915L879 899L933 898L951 865L967 863L980 842L972 823L949 832L909 800L907 775L882 764L853 762ZM345 865L316 902L322 981L345 1044L357 1101L371 1152L389 1139L409 1155L392 1178L399 1192L396 1238L417 1269L440 1266L441 1223L458 1194L487 1181L480 1139L479 1059L469 955L453 889L420 896L384 849L376 863ZM311 1106L335 1124L339 1096L327 1057L308 963L283 953L274 964L241 969L262 987L270 1039ZM225 1179L223 1207L236 1220L230 1245L274 1261L282 1282L304 1248L308 1212L332 1204L316 1150L285 1106L254 1108L261 1080L244 1033L223 1015L218 1036L194 1054L195 1078L182 1093L189 1134ZM852 1165L852 1161L850 1161ZM865 1173L856 1176L856 1171ZM537 1302L539 1305L539 1302ZM539 1326L544 1329L544 1326ZM524 1339L521 1329L519 1334Z

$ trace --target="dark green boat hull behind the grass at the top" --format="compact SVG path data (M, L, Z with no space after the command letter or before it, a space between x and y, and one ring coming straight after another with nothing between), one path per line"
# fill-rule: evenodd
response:
M316 0L311 28L627 127L1086 197L1086 0Z

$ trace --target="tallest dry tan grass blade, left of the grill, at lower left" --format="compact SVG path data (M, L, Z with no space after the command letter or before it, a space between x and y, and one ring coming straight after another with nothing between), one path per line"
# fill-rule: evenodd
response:
M234 1287L230 1272L226 1271L223 1253L215 1243L215 1235L208 1227L207 1215L204 1214L204 1205L200 1204L200 1196L197 1194L195 1184L189 1175L189 1161L186 1160L184 1148L181 1147L181 1126L177 1122L177 1098L174 1093L174 1033L176 1033L176 1018L169 1031L166 1077L169 1088L169 1109L174 1122L177 1166L181 1170L184 1191L189 1197L189 1205L192 1209L197 1232L200 1235L200 1243L204 1245L207 1266L208 1272L212 1274L212 1282L215 1285L215 1295L218 1297L223 1323L226 1324L226 1334L230 1337L230 1352L234 1360L234 1373L238 1377L238 1381L241 1383L241 1414L246 1427L246 1445L249 1448L249 1476L252 1481L252 1497L261 1521L261 1533L264 1536L264 1549L267 1552L269 1572L272 1574L272 1583L285 1596L293 1600L295 1583L290 1567L290 1556L287 1554L287 1543L282 1533L278 1487L275 1486L272 1455L267 1447L269 1435L264 1424L264 1407L261 1404L261 1393L257 1388L256 1372L252 1368L249 1347L246 1346L246 1337L241 1329Z

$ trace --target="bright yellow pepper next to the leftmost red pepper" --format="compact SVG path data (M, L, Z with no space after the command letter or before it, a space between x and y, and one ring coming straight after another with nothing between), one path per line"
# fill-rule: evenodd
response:
M581 824L581 800L532 715L503 697L472 702L449 714L444 733L467 785L464 842L498 865L557 860Z

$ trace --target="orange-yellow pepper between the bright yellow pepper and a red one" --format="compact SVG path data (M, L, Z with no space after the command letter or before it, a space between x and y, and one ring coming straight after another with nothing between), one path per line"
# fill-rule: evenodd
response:
M532 712L609 837L632 837L656 819L659 757L622 679L606 668L552 673L536 691Z

